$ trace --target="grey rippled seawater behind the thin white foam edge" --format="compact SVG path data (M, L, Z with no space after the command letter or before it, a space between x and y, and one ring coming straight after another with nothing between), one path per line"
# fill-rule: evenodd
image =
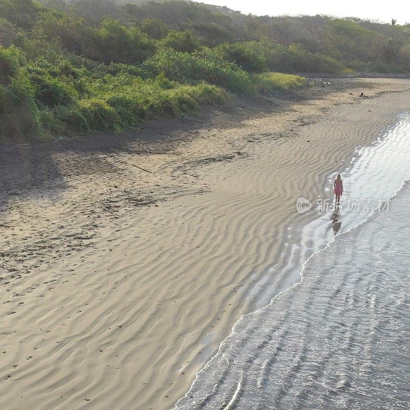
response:
M315 254L241 319L177 409L407 409L409 207L406 183L389 212Z

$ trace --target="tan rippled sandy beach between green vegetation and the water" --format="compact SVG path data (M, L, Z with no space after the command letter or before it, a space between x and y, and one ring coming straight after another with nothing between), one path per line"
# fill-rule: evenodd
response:
M326 83L0 148L0 407L173 408L297 280L297 198L409 111L410 80Z

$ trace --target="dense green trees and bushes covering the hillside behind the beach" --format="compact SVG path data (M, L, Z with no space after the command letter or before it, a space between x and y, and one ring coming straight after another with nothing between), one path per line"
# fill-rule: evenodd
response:
M119 131L288 89L281 73L410 70L410 26L185 1L0 0L0 138Z

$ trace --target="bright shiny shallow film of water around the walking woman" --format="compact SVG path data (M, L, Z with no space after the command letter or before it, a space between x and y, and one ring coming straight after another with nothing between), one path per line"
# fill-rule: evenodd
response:
M255 303L257 309L267 305L281 290L299 281L302 265L312 254L323 249L335 235L364 221L373 209L381 206L381 201L393 196L403 180L410 179L409 158L410 113L407 112L399 115L395 124L382 129L373 144L357 148L349 163L335 164L335 172L324 175L320 197L312 198L309 193L301 192L312 203L310 211L305 214L309 222L302 229L296 227L301 240L291 245L290 250L284 249L283 254L289 255L286 264L279 261L272 265L270 272L278 274L275 282L268 283L263 276L259 278L266 291ZM342 175L344 194L339 208L335 210L333 181L338 173ZM388 202L383 207L388 210ZM285 245L288 248L290 244ZM257 295L252 296L257 299Z

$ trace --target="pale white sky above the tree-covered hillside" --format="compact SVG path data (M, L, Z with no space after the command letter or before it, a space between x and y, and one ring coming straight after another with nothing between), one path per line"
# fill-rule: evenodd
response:
M391 22L392 18L395 18L398 24L410 22L410 3L403 0L201 0L200 3L227 6L244 14L271 16L327 14L337 17L376 19L385 23Z

